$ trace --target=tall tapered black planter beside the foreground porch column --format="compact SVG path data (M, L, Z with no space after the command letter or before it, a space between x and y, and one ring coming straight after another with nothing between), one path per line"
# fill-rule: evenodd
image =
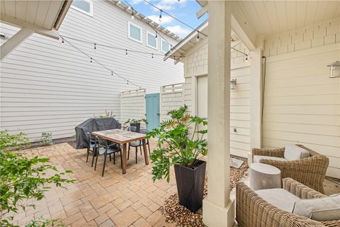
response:
M179 204L193 212L202 207L205 167L206 162L202 160L197 160L193 168L175 165Z

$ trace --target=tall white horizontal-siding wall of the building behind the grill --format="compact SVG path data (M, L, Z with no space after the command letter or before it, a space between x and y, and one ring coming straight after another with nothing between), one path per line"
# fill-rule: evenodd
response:
M94 16L69 9L60 34L106 45L133 50L157 52L146 45L146 33L152 31L146 23L135 19L142 27L143 43L128 38L130 14L108 1L94 1ZM7 38L18 28L1 25ZM167 37L165 34L164 37ZM175 40L167 38L171 43ZM5 40L1 39L1 43ZM123 77L147 89L159 92L164 84L183 81L183 65L174 65L162 56L141 55L72 41L81 50ZM159 38L160 43L160 38ZM160 45L159 45L160 50ZM161 52L158 52L161 53ZM42 35L32 35L1 62L1 129L10 133L23 131L31 140L43 131L54 138L74 135L74 126L86 118L98 116L106 110L120 119L120 92L136 89L131 83L111 76L96 62Z

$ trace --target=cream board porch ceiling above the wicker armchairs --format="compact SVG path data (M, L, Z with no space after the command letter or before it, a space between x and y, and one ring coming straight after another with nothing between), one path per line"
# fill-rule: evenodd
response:
M274 35L340 16L340 1L234 1L258 35Z

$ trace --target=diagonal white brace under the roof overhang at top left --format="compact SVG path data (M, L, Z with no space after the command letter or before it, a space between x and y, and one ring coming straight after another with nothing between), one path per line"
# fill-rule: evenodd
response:
M7 55L15 50L18 45L23 43L23 41L25 41L33 33L34 31L29 28L21 28L21 30L7 40L6 43L1 45L1 60L4 60Z

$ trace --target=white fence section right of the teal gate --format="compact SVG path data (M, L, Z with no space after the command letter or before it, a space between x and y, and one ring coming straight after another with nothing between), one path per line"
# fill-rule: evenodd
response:
M183 105L183 83L170 84L161 87L160 92L160 113L161 121L168 120L169 111L178 109Z

